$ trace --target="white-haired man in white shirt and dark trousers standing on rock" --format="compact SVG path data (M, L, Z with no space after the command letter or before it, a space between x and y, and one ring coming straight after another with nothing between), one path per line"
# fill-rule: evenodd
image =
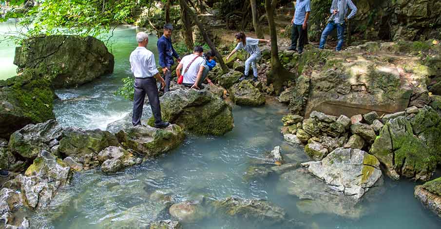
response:
M136 34L136 41L138 47L130 54L130 65L135 77L132 123L134 126L141 125L142 108L147 94L154 116L154 127L166 128L170 123L162 121L156 79L161 82L162 88L165 87L165 81L156 69L153 53L146 48L149 35L139 32Z

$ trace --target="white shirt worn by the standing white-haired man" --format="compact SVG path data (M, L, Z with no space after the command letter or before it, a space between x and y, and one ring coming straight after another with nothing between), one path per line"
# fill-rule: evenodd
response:
M136 47L130 54L130 65L136 78L152 77L159 72L156 68L154 54L144 47Z

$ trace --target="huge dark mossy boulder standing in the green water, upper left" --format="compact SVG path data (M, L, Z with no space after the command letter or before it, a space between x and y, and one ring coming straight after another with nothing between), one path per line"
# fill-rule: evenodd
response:
M14 64L39 69L55 88L76 87L113 73L114 56L104 42L73 35L37 36L16 48Z

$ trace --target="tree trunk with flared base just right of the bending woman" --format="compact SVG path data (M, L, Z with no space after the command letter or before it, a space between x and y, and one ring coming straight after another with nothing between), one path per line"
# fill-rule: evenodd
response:
M271 36L271 70L267 75L267 84L272 83L276 94L282 92L283 83L295 79L295 75L290 73L280 62L279 48L277 46L276 25L274 23L274 10L277 0L265 0L265 10L269 24L269 34Z

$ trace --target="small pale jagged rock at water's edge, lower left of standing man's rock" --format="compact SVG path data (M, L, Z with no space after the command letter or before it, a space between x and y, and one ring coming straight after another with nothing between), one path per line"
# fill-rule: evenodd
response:
M114 173L119 170L139 164L142 162L141 158L136 158L134 155L122 147L110 146L98 153L98 160L102 162L101 171L105 173Z

